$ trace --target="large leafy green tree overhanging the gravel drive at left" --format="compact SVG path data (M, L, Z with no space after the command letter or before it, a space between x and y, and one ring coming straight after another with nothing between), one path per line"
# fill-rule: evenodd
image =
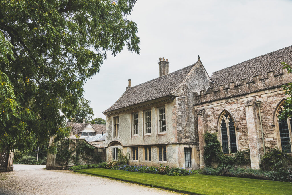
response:
M127 20L134 4L0 0L0 70L11 84L3 88L8 95L1 100L17 103L6 110L14 118L1 110L0 118L6 119L0 120L0 151L7 146L29 150L47 144L50 136L60 139L68 133L61 113L74 116L84 82L98 73L107 53L115 56L124 46L139 53L137 25Z

